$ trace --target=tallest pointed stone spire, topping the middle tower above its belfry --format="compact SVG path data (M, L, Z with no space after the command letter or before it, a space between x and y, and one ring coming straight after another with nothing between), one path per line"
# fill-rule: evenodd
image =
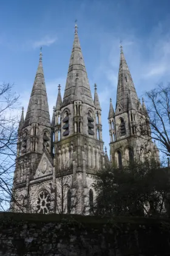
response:
M66 88L62 107L73 102L76 93L76 75L78 74L78 87L83 99L83 103L94 106L92 94L90 91L89 80L87 78L86 68L84 64L83 54L81 52L80 41L78 38L78 27L75 25L75 37L73 41L72 54L70 57L69 71L67 74Z

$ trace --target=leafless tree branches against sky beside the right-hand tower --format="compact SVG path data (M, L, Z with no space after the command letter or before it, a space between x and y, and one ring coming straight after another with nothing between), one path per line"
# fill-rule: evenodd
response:
M149 107L146 115L151 133L149 140L158 142L158 149L170 156L170 84L167 87L161 85L154 90L146 92ZM148 126L149 127L149 126Z

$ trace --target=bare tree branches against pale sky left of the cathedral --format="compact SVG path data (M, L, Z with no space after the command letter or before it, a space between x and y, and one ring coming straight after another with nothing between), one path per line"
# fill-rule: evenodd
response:
M18 98L19 95L13 92L13 85L0 85L0 210L6 210L12 197L18 135Z

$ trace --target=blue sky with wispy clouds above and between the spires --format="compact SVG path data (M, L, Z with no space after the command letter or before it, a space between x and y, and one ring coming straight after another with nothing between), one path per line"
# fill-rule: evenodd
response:
M66 84L75 19L93 95L94 83L98 85L107 148L120 40L139 98L170 81L169 0L1 0L0 5L0 82L15 84L25 112L42 46L52 117L58 84L62 92Z

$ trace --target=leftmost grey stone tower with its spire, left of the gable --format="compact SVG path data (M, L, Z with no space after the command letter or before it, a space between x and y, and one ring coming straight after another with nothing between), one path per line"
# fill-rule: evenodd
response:
M32 183L36 183L33 180L42 155L46 154L48 158L51 158L51 133L49 105L42 68L42 52L40 52L29 106L25 120L22 109L18 129L16 169L13 181L18 210L28 203L30 186ZM15 202L12 203L12 207L16 208Z

